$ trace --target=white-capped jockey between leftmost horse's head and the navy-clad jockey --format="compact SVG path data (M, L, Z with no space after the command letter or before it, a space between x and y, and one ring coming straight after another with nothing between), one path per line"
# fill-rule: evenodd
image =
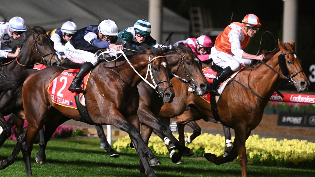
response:
M71 39L72 35L77 31L77 25L72 21L66 21L61 28L47 31L47 35L54 41L54 49L59 59L66 58L64 55L65 44Z

